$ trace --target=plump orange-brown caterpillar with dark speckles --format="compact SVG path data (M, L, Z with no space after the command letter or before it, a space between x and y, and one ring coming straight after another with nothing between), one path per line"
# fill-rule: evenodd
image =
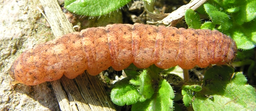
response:
M179 65L228 64L236 56L236 43L217 30L194 30L144 24L113 24L39 44L23 52L13 63L11 83L37 85L73 79L87 70L97 75L108 67L122 70L134 63L138 68L152 64L162 69Z

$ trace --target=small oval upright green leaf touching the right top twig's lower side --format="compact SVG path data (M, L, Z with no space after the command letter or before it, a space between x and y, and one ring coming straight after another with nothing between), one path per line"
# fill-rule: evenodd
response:
M188 24L188 28L199 29L201 26L199 14L194 12L192 9L186 10L185 20Z

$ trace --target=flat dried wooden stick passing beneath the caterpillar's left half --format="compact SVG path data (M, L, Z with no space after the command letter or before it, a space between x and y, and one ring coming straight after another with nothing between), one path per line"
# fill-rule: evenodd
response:
M54 36L74 32L57 0L40 0L40 2L44 7L46 18L48 18ZM60 81L52 81L51 84L62 111L115 111L112 102L96 76L83 73L75 79L76 83L74 80L65 77L60 80L61 83ZM88 89L88 87L90 88Z

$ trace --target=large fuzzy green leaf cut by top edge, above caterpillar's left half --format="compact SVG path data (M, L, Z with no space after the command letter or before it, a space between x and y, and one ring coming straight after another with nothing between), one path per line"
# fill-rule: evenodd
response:
M65 8L84 16L101 16L118 10L131 0L65 0Z

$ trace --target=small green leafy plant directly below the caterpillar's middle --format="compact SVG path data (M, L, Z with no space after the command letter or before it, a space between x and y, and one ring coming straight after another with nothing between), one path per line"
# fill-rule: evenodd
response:
M140 73L136 72L140 70ZM132 105L132 111L169 111L173 109L174 91L158 73L162 69L152 65L138 69L134 65L125 72L127 78L115 84L111 99L116 105Z

